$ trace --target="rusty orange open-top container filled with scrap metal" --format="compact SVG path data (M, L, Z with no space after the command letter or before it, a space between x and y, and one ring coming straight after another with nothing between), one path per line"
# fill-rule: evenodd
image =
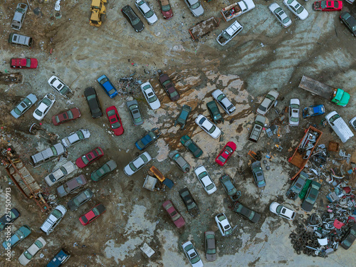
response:
M305 130L305 134L302 140L300 140L298 147L295 148L293 156L288 159L288 162L299 168L297 174L291 178L292 180L304 169L322 135L323 132L313 126L309 126Z

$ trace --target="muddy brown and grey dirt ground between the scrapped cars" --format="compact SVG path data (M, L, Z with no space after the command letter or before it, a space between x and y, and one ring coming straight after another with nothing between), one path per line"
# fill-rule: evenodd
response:
M278 4L293 21L292 26L285 29L268 10L271 2L256 0L256 9L238 19L244 30L223 47L219 46L215 38L229 23L221 21L219 28L199 41L192 41L188 29L210 16L221 16L219 11L232 4L231 0L203 2L205 14L199 18L190 14L184 1L171 0L174 16L169 21L162 19L159 4L151 0L150 5L155 10L158 21L153 26L144 21L145 30L141 33L136 33L122 16L120 9L127 1L108 1L107 19L103 26L95 28L88 23L89 0L62 0L61 14L54 11L52 0L43 4L39 4L37 0L29 0L31 10L28 10L23 28L19 32L33 37L34 46L27 49L11 46L7 42L9 33L12 32L11 19L19 2L21 1L4 0L0 4L0 71L14 72L9 68L9 61L16 57L38 58L39 66L36 70L20 70L24 76L22 84L0 85L1 146L5 149L9 145L14 147L36 182L43 187L52 207L57 204L66 205L74 197L56 197L56 187L59 184L47 188L43 179L65 160L75 162L83 153L100 146L105 156L85 169L77 170L70 177L84 174L89 179L90 173L109 159L115 160L117 169L100 182L89 182L85 188L93 190L93 199L80 206L77 211L68 211L53 233L43 236L39 227L47 214L41 213L34 201L23 198L21 192L11 184L4 167L1 167L1 203L5 199L5 188L11 187L12 204L21 212L21 217L12 226L13 230L23 224L28 224L32 229L31 236L13 249L11 262L5 260L4 250L0 251L0 261L4 266L19 266L17 258L39 236L43 236L48 244L41 251L43 255L36 256L28 266L45 265L60 248L71 254L66 266L189 266L180 246L187 240L196 246L204 266L355 266L355 245L348 251L340 248L325 260L303 254L298 256L288 239L298 219L286 221L268 210L272 201L279 201L295 209L299 219L302 216L307 217L308 214L300 209L300 200L290 201L285 197L290 187L290 177L298 171L288 163L288 158L293 155L309 125L316 125L324 132L321 144L328 146L330 140L340 142L329 126L321 126L323 117L308 120L302 118L299 127L293 127L287 133L288 119L279 122L279 115L272 109L266 116L268 125L279 124L281 137L268 138L263 132L257 144L247 141L258 103L273 88L280 93L276 105L276 110L280 113L288 106L290 98L299 98L302 108L323 103L326 112L337 110L346 122L355 117L353 98L347 108L340 108L298 88L301 76L309 75L355 95L356 39L340 23L339 12L315 12L311 8L311 1L303 1L301 4L305 4L309 16L305 21L299 21L290 11L286 11L280 1ZM134 1L130 5L138 14ZM356 5L352 6L344 1L343 11L355 14ZM159 85L159 69L172 78L179 90L181 98L177 102L171 102ZM150 80L161 102L161 108L151 110L138 85L133 95L122 92L110 99L96 81L96 78L105 74L119 88L119 79L133 73L133 77L142 82ZM30 164L31 155L48 147L50 142L40 135L31 135L28 132L32 123L38 122L31 115L34 108L17 120L10 115L10 111L28 93L35 93L38 99L43 98L46 93L54 93L47 83L51 75L58 75L69 85L74 95L66 100L57 94L56 103L41 122L41 126L56 133L58 140L78 129L90 130L91 136L70 147L68 158L61 157L33 168ZM83 95L88 86L95 87L103 110L111 105L117 107L125 129L124 135L116 137L110 132L105 115L95 120L91 117ZM232 116L224 114L225 122L218 125L224 132L219 140L213 140L194 123L199 113L209 117L206 103L212 100L211 92L216 88L223 90L237 109ZM139 102L145 119L145 123L138 127L132 125L125 107L125 101L132 97ZM173 126L174 119L184 104L192 107L192 113L184 130L179 130L179 126ZM75 107L80 108L82 113L79 120L61 126L52 124L53 115ZM152 127L159 127L163 133L146 150L154 159L135 175L127 177L123 168L139 154L134 144ZM179 138L182 135L189 135L197 142L204 151L201 158L192 158L180 145ZM219 167L214 159L229 141L236 142L237 150L226 166ZM282 152L276 150L276 144L281 144ZM340 148L352 154L352 160L356 162L355 137L345 144L340 142ZM217 192L207 195L193 171L188 174L179 171L167 157L170 150L176 149L192 168L204 164L218 187ZM263 189L258 189L253 182L249 150L260 151L263 159L267 159L266 155L270 153L273 155L267 163L271 169L265 170L267 186ZM332 154L330 161L335 157L337 155ZM147 170L152 165L174 181L172 189L166 187L150 192L142 188ZM264 169L265 167L263 165ZM224 173L234 177L236 187L242 192L241 203L261 214L258 224L251 224L231 211L229 200L218 181ZM349 178L347 181L355 188L355 173ZM201 213L197 218L189 216L179 198L178 191L183 187L189 188L199 205ZM325 210L328 204L325 195L330 189L329 184L323 182L313 211L322 213ZM166 199L172 199L184 216L184 229L176 229L164 213L162 203ZM92 224L82 226L78 221L79 216L99 203L106 206L106 213ZM5 206L1 204L0 214L4 212ZM231 225L237 226L230 237L222 237L216 226L214 216L220 212L225 212ZM204 231L209 230L216 231L218 256L214 263L205 261L204 257ZM1 237L1 242L2 239ZM151 258L147 258L140 250L144 243L155 250Z

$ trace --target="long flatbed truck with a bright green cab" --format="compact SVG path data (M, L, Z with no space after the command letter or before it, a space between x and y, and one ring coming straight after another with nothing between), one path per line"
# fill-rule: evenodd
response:
M328 99L341 107L346 107L350 100L350 94L344 90L333 88L330 85L320 83L318 80L314 80L305 75L303 75L302 80L300 80L298 87L307 90L314 95L319 95L322 98Z

